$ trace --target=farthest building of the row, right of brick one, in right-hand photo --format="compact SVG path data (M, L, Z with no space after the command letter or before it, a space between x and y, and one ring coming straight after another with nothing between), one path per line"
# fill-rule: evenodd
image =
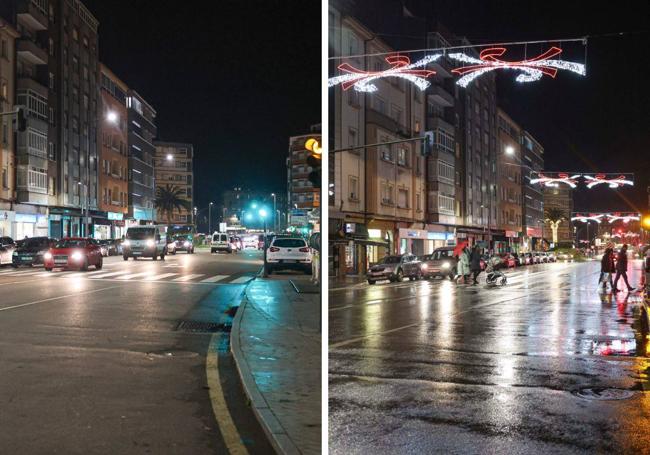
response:
M525 251L541 249L544 229L544 194L540 185L530 183L544 170L544 148L530 132L522 131L522 247Z

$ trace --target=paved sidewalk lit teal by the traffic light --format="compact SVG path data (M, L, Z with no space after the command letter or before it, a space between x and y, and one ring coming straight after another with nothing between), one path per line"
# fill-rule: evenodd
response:
M253 411L282 454L321 450L320 295L297 293L289 279L302 278L252 281L230 335Z

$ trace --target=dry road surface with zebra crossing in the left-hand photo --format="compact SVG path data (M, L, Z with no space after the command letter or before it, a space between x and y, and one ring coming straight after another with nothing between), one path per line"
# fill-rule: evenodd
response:
M229 350L261 254L0 268L0 452L270 453Z

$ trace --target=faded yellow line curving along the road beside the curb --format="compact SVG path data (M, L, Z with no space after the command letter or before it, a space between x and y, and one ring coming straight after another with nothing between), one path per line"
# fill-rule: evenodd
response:
M219 424L219 431L226 444L228 452L233 455L246 455L248 449L242 443L241 436L235 422L232 419L226 397L221 387L221 378L219 377L219 341L224 334L213 334L210 337L210 345L205 359L205 373L208 380L208 389L210 391L210 401L212 403L212 412Z

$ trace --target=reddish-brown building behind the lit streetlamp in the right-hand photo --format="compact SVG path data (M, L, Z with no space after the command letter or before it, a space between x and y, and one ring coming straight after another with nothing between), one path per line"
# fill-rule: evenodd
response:
M521 127L502 109L497 111L497 226L507 241L496 241L499 252L518 252L522 239Z

